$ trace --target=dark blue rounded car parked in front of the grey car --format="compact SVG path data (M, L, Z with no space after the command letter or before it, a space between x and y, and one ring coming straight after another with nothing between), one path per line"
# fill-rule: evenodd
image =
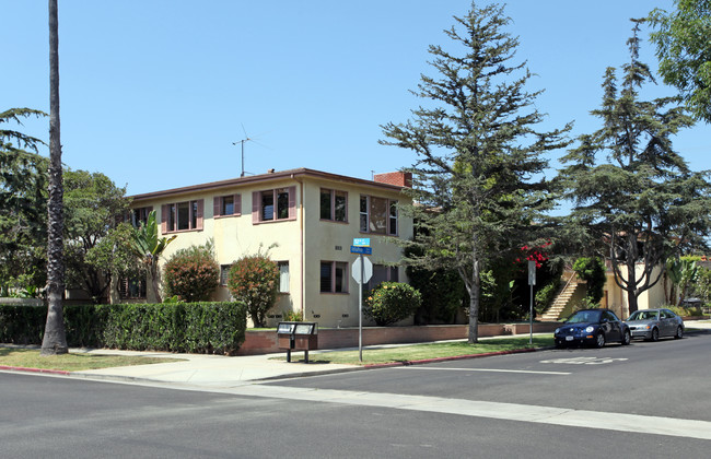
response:
M602 348L616 341L627 345L631 341L630 329L609 309L582 309L573 314L556 329L556 348L588 344Z

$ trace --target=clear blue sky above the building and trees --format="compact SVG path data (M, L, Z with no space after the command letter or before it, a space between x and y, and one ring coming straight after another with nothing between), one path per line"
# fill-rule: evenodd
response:
M59 0L62 160L129 195L222 180L240 175L244 126L258 141L245 144L252 174L310 167L370 179L409 166L413 153L377 144L380 126L408 119L420 103L409 90L433 74L428 45L446 46L442 31L469 5ZM546 90L537 102L546 128L599 127L588 111L605 68L628 60L629 17L655 7L673 1L508 3L517 58L537 74L528 89ZM0 109L49 111L47 2L0 0ZM642 59L656 67L649 43ZM48 119L24 130L48 140ZM675 142L695 169L710 168L710 134L700 123Z

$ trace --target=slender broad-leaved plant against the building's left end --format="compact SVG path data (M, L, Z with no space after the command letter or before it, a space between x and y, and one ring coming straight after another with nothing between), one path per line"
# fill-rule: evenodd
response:
M148 295L149 303L161 303L161 276L158 269L160 257L165 251L165 248L177 236L173 235L171 238L158 237L158 222L155 221L155 211L148 214L145 224L141 222L138 228L133 228L131 250L145 267L148 272Z

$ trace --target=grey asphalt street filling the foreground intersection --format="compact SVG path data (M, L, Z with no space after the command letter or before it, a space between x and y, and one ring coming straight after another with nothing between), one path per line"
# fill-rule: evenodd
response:
M707 457L710 346L697 334L224 388L0 373L0 456Z

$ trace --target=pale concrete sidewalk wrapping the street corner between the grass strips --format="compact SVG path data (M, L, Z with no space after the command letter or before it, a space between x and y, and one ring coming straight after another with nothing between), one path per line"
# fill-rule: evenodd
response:
M686 322L687 328L711 330L711 320L695 320ZM491 337L504 338L504 337ZM511 338L511 337L508 337ZM486 340L482 339L482 340ZM368 350L380 349L393 345L374 345L363 348L363 352ZM401 344L411 345L411 344ZM310 360L318 361L318 354L333 351L347 351L352 349L338 349L338 350L322 350L311 351ZM358 350L358 349L356 349ZM359 365L338 365L338 364L324 364L324 363L303 363L299 362L303 358L303 352L293 352L292 362L287 363L281 360L273 360L273 357L284 356L285 352L280 354L265 354L265 355L248 355L248 356L221 356L221 355L203 355L203 354L173 354L167 352L139 352L139 351L118 351L108 349L72 349L71 353L89 353L89 354L123 354L123 355L141 355L148 357L170 357L180 358L182 361L172 363L160 363L150 365L136 365L123 366L103 369L90 369L83 372L72 372L69 374L71 377L86 378L86 379L106 379L119 381L136 381L136 382L154 382L154 384L172 384L182 386L197 386L197 387L234 387L255 381L280 379L301 376L314 376L319 374L351 372L364 369Z

